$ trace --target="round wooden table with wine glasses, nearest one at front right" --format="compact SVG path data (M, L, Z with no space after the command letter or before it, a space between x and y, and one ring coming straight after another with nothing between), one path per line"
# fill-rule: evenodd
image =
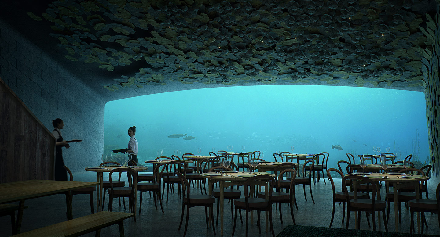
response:
M422 176L420 178L410 178L411 176L405 176L405 174L390 174L391 172L387 173L387 174L381 174L381 173L370 173L370 174L366 174L363 175L361 173L358 172L354 172L351 173L350 175L361 175L364 177L369 178L371 181L373 181L376 184L376 188L377 188L377 198L378 200L381 200L381 195L380 195L380 183L381 182L385 182L385 194L387 192L389 192L389 183L393 184L393 198L394 198L394 220L395 220L395 225L396 225L396 232L399 232L399 218L398 218L398 202L397 202L397 192L400 188L403 187L415 187L415 196L416 199L419 199L419 182L421 181L425 181L425 180L429 180L428 176ZM387 176L387 178L383 178L384 176ZM365 183L363 180L355 180L353 182L353 192L354 192L354 198L356 198L356 193L357 193L357 186L361 183ZM357 226L357 215L355 213L355 226L356 229L359 228L359 226ZM378 219L380 219L380 216L378 215ZM418 233L420 233L420 219L419 219L419 213L417 212L417 226L418 226Z

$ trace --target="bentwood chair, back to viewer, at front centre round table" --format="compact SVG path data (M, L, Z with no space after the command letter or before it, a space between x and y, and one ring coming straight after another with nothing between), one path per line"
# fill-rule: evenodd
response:
M249 186L253 186L253 182L257 180L267 180L269 189L268 189L268 199L261 198L261 197L251 197L251 194L249 193L250 190L253 190L253 187L249 189ZM272 236L275 237L273 224L272 224L272 192L275 185L275 179L272 176L269 175L257 175L250 177L245 181L243 184L243 191L245 193L245 198L238 198L234 200L235 205L235 218L234 218L234 228L232 229L232 236L234 236L235 233L235 226L237 224L237 212L238 210L245 210L246 211L246 237L248 236L248 220L249 220L249 212L251 211L257 211L257 225L258 225L258 232L261 233L261 223L260 223L260 213L263 212L269 212L269 222L270 222L270 230L272 231Z

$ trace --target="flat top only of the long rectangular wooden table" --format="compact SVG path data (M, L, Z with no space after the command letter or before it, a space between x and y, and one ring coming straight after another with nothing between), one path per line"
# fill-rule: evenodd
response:
M84 187L93 187L95 182L73 182L58 180L25 180L0 184L0 204L26 200L35 197L44 197L69 190Z

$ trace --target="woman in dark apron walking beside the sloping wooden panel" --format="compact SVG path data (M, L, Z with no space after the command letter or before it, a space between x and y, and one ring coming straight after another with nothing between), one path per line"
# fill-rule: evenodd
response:
M64 169L64 161L62 160L61 147L69 148L70 145L66 140L63 140L61 136L61 129L64 127L64 122L61 118L53 119L52 125L54 130L52 134L55 136L55 180L67 181L67 171Z

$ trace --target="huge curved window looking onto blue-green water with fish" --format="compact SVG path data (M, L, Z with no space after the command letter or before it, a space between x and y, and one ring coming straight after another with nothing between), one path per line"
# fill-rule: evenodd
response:
M139 165L164 155L209 151L328 152L329 168L346 153L396 160L413 154L429 162L425 95L422 92L350 86L229 86L182 90L110 101L105 106L104 154L128 147L136 126ZM380 147L380 148L378 148ZM420 164L419 164L420 162ZM359 163L359 162L358 162ZM150 169L152 171L152 169Z

